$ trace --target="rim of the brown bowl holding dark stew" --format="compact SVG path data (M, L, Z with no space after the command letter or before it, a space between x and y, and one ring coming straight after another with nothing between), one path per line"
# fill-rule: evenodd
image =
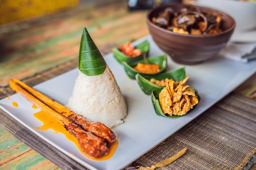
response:
M160 8L164 8L164 7L175 7L175 6L182 6L182 7L195 7L195 8L199 8L199 9L206 9L206 10L210 10L210 11L215 11L217 13L220 13L221 15L226 15L227 17L229 17L233 22L234 24L229 28L229 29L226 29L225 31L221 31L220 33L215 33L215 34L209 34L209 35L191 35L191 34L181 34L181 33L175 33L173 31L169 31L167 29L164 29L160 26L157 26L156 24L154 24L149 16L150 14L157 10L157 9L160 9ZM162 4L158 7L154 7L150 10L147 11L146 13L146 22L148 24L150 24L151 26L155 27L156 29L160 29L161 31L164 31L166 33L172 33L173 35L179 35L179 36L183 36L183 37L191 37L191 38L209 38L209 37L216 37L216 36L220 36L222 34L225 34L225 33L228 33L230 31L234 31L235 27L236 27L236 21L234 20L234 18L232 18L230 15L228 15L227 13L224 13L222 11L219 11L219 10L216 10L216 9L211 9L211 8L208 8L208 7L201 7L201 6L197 6L197 5L192 5L192 4L179 4L179 3L170 3L170 4Z

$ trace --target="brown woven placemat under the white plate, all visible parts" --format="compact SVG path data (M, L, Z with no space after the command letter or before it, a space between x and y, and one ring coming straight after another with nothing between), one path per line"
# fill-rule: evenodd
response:
M34 86L76 68L77 63L77 60L72 60L22 81L29 86ZM2 87L0 99L13 93L9 86ZM49 145L3 110L0 110L0 113L2 128L57 166L67 170L86 170L81 164ZM182 157L157 170L248 170L256 161L255 118L256 101L232 92L127 168L153 166L187 148Z

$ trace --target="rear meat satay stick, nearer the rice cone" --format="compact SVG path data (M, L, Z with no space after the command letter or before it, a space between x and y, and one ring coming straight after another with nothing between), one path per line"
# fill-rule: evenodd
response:
M83 130L91 131L95 135L106 139L109 144L115 142L115 133L112 132L112 130L110 130L104 124L101 124L99 122L90 122L86 118L82 118L81 115L79 116L77 113L74 113L72 110L69 110L65 106L43 95L39 91L36 91L34 88L31 88L30 86L21 82L18 79L10 80L9 84L16 92L20 92L21 95L26 97L27 100L32 103L36 102L35 105L41 110L45 110L52 113L53 115L57 115L57 118L61 119L62 121L63 119L65 119L65 121L72 121L74 124L80 126ZM47 107L45 108L45 106ZM65 121L64 123L67 123Z

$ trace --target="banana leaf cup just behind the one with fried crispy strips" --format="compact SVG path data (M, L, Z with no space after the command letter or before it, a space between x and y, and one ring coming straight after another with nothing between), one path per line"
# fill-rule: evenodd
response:
M160 85L150 82L151 78L154 78L157 80L162 80L162 79L168 78L168 79L173 79L174 81L180 82L185 77L186 77L185 67L181 67L181 68L167 71L165 73L160 73L157 75L141 75L139 73L137 75L135 75L135 78L139 84L139 87L146 95L150 95L151 92L156 88L157 89L164 88L164 86L160 86Z

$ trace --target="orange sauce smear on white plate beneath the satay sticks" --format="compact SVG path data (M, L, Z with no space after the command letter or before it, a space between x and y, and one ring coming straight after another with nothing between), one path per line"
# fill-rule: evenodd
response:
M48 129L51 128L52 130L55 131L54 133L58 133L58 132L62 133L63 135L65 135L65 137L68 140L72 141L76 145L77 148L79 148L81 153L83 153L89 159L92 159L95 161L103 161L103 160L110 159L114 155L115 150L117 149L118 141L116 140L115 144L112 144L111 146L109 146L109 152L107 155L105 155L101 158L92 158L83 152L83 150L79 146L77 139L73 135L71 135L70 132L68 132L62 124L58 123L58 121L56 121L51 115L49 115L49 113L39 111L34 114L34 117L36 117L38 120L43 122L42 126L33 127L34 129L41 130L41 131L47 131ZM73 153L71 153L71 154L74 155Z

